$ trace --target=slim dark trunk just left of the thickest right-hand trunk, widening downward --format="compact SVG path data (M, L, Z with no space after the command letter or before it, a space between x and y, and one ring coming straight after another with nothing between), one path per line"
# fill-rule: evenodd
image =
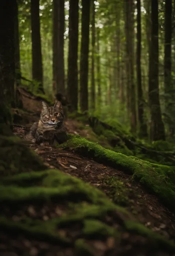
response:
M137 0L137 94L138 94L138 122L140 136L147 136L147 126L144 122L143 90L141 81L141 6Z

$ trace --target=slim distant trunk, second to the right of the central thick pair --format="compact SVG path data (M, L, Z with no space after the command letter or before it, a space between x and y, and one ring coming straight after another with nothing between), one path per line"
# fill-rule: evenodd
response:
M98 108L101 107L101 79L100 79L100 28L97 28L97 86L98 86Z

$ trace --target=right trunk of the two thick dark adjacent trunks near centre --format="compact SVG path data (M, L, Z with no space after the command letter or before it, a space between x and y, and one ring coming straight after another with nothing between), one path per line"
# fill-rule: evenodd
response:
M89 56L90 0L82 0L82 30L80 53L80 109L88 110L88 56Z

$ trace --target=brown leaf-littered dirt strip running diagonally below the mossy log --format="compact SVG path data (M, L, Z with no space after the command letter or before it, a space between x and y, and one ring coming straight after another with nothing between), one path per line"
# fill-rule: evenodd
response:
M14 126L14 134L20 137L23 137L24 131L25 126ZM104 191L116 204L126 207L145 226L175 241L175 215L133 181L130 175L68 151L31 144L28 147L43 159L47 167L58 168L89 182Z

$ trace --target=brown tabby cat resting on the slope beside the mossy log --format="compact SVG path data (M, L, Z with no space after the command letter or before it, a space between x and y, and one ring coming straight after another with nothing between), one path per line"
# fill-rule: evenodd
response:
M61 102L56 102L53 107L48 107L43 100L41 104L40 120L32 125L25 139L43 146L64 143L67 140L67 133L63 122L64 113Z

